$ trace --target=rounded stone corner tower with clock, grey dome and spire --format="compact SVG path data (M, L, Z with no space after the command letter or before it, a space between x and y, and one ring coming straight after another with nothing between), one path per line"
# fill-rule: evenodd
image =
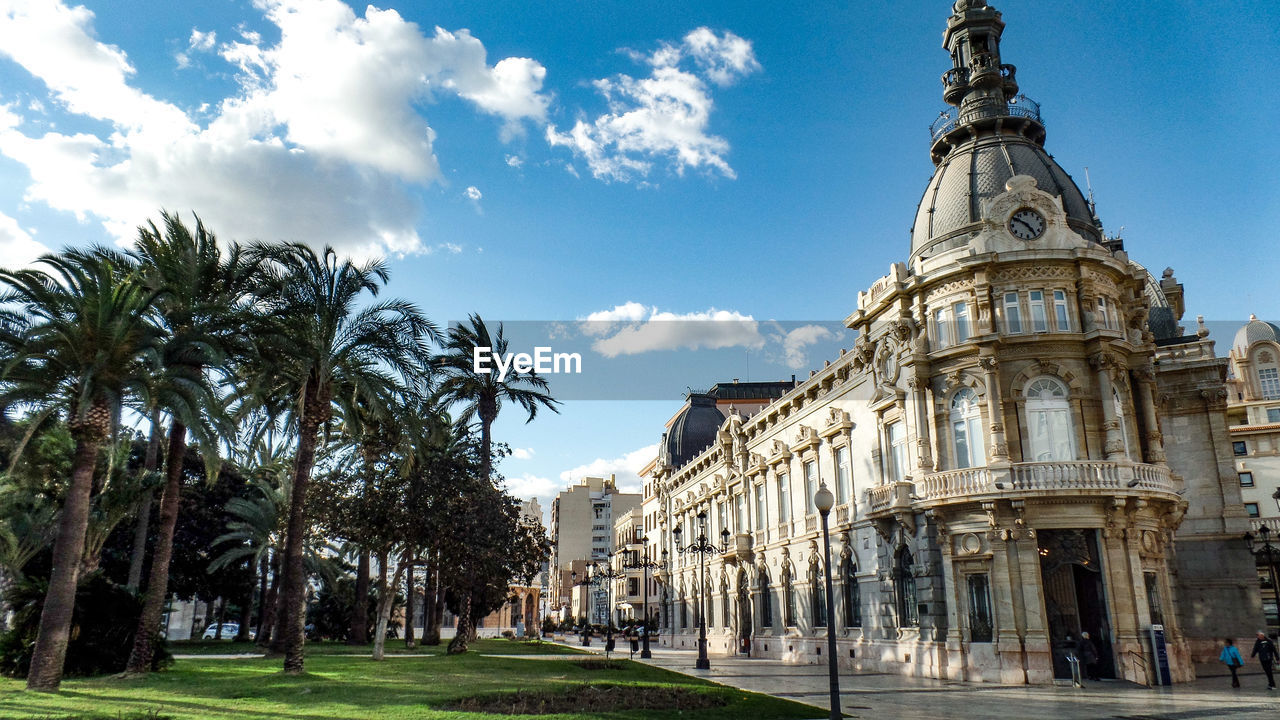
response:
M905 552L940 569L913 570L922 610L989 592L1002 609L983 615L991 630L963 609L918 614L919 637L945 639L940 653L959 648L945 664L970 676L1069 676L1074 638L1089 632L1105 676L1147 682L1132 659L1151 655L1149 628L1161 625L1171 675L1187 680L1171 538L1188 492L1203 498L1189 524L1226 527L1212 461L1225 436L1206 430L1166 452L1162 404L1217 392L1197 384L1216 372L1212 351L1202 374L1157 363L1157 347L1183 342L1172 337L1180 307L1106 241L1091 201L1044 151L1039 106L1001 55L1004 31L986 1L955 3L942 74L952 109L931 128L934 172L909 261L859 293L846 320L859 332L855 363L873 377L882 484L868 492L868 516L887 539L879 562ZM988 635L995 647L979 639Z

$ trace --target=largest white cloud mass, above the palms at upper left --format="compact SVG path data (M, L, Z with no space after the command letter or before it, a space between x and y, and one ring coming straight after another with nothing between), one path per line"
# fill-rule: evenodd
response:
M124 51L100 41L83 6L32 3L0 14L0 56L41 79L101 131L23 132L0 122L0 154L26 165L27 201L100 222L116 238L159 208L196 209L223 237L328 242L355 255L425 251L410 186L440 177L424 101L460 96L504 136L545 119L543 67L489 65L467 31L425 33L394 10L357 15L339 0L260 0L279 29L188 51L232 65L238 90L197 123L142 92ZM81 127L78 124L77 127ZM92 126L90 126L92 127Z

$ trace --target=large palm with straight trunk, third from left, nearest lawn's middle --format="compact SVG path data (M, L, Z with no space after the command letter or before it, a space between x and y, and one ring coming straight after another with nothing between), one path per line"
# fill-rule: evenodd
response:
M284 670L296 674L303 665L306 501L320 428L333 418L335 405L349 407L396 383L421 384L436 329L402 300L357 307L366 293L376 296L387 283L383 261L357 265L339 260L332 247L316 255L302 243L256 250L274 265L262 296L268 324L256 355L262 363L261 382L285 388L297 416L280 588Z

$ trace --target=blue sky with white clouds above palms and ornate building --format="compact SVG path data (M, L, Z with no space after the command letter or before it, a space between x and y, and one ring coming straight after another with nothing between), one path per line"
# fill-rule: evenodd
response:
M1280 319L1277 6L995 4L1047 149L1130 256L1178 272L1192 322ZM906 256L950 4L685 5L0 0L0 264L195 210L387 254L442 324L756 333L723 377L666 360L675 388L806 374L847 338L788 332L838 329ZM507 415L503 471L544 497L630 477L680 401Z

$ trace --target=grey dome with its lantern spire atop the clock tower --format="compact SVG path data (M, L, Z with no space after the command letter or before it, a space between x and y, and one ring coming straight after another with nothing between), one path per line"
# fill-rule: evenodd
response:
M1014 176L1062 201L1066 225L1102 242L1101 223L1065 170L1044 151L1039 105L1018 94L1016 68L1000 55L1005 22L983 0L960 0L947 18L942 46L951 69L942 73L942 99L955 108L931 126L933 178L911 228L911 261L964 247L982 228L982 206L1004 192ZM1043 231L1016 222L1015 234Z

